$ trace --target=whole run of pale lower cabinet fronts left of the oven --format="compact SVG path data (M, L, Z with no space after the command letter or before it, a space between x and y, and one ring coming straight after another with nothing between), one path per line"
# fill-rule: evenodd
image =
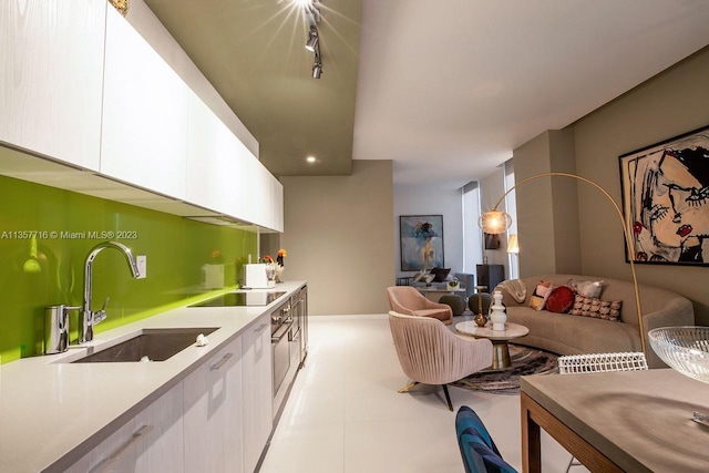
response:
M68 472L250 473L273 422L265 313Z

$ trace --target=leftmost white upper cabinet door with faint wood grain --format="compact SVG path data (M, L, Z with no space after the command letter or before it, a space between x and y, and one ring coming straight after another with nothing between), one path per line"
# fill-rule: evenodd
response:
M99 169L105 1L0 1L0 142Z

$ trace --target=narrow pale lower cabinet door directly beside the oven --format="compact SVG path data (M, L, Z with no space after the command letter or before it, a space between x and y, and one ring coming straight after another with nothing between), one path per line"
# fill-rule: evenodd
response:
M244 338L244 470L253 472L274 428L270 315L265 313Z

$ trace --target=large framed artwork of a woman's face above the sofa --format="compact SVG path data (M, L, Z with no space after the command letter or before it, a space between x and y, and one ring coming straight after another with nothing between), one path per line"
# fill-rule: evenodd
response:
M619 156L626 260L709 266L709 126Z

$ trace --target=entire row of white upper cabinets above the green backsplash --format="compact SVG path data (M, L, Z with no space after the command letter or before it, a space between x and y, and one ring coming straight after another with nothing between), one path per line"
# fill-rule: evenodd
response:
M0 0L3 144L282 232L281 184L106 1Z

